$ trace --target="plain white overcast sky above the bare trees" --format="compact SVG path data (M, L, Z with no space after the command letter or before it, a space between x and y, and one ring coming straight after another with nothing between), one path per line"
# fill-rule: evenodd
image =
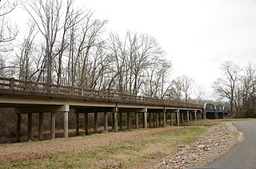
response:
M108 19L107 31L155 37L173 64L172 76L186 74L207 89L223 61L256 64L256 0L76 2L95 10L95 18Z

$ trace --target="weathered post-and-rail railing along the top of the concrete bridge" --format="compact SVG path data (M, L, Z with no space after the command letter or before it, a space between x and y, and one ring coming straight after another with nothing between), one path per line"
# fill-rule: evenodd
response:
M87 98L95 98L98 100L120 100L137 104L158 104L166 106L175 106L178 108L203 108L201 104L192 104L186 102L163 100L145 96L134 96L118 92L97 91L86 88L78 88L63 85L49 85L46 83L34 81L22 81L14 78L0 77L0 92L2 89L24 92L53 93L65 96L85 96Z

